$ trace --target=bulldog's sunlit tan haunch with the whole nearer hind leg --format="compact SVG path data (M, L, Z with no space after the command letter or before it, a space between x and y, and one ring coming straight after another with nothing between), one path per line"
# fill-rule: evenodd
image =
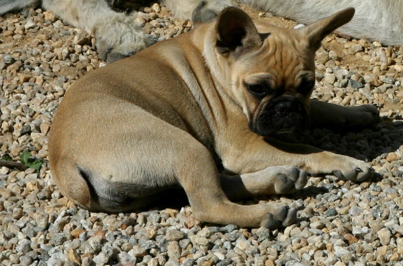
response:
M100 108L106 105L103 96L85 97L69 106L64 98L49 135L53 178L81 206L128 211L146 205L162 189L181 186L195 218L203 222L275 228L296 219L292 208L230 202L211 152L185 130L132 103L109 98L108 108ZM78 126L81 117L85 122ZM88 137L89 132L98 133Z

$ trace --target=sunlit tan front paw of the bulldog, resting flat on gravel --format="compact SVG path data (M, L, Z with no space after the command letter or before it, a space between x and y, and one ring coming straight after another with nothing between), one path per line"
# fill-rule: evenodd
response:
M349 158L340 169L333 170L332 174L343 180L364 181L371 177L374 170L369 167L365 162Z

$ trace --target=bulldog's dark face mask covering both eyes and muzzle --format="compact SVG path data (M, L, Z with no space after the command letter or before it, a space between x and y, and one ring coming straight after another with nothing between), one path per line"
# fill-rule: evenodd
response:
M304 131L309 125L314 72L299 72L292 82L279 82L272 77L270 74L252 75L243 82L251 107L249 128L263 137Z

